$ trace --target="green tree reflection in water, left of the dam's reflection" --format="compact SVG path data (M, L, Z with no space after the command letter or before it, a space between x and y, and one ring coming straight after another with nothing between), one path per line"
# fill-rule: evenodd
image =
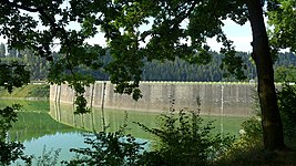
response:
M54 135L57 132L67 133L78 131L71 126L58 123L49 115L50 103L48 101L29 100L0 100L0 108L19 103L18 121L9 129L9 138L19 142L32 141L44 135Z

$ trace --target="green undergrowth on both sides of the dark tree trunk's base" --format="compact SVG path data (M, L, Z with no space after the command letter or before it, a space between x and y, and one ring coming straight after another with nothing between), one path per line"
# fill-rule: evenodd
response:
M283 84L277 92L278 107L283 121L285 142L295 148L296 141L296 86ZM255 101L257 101L255 98ZM285 163L278 154L266 152L263 148L263 128L259 106L254 107L258 115L251 117L242 124L243 132L232 148L220 158L220 165L263 165ZM294 162L293 158L290 159ZM247 164L246 164L247 163ZM294 162L295 163L295 162Z

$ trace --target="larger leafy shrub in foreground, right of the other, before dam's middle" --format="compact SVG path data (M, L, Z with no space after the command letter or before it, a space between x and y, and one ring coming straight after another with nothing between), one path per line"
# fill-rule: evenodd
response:
M176 111L161 116L160 128L149 128L137 123L144 131L156 136L155 149L145 152L142 165L207 165L221 156L232 145L234 137L214 135L212 123L203 124L197 111ZM177 115L176 115L177 114Z

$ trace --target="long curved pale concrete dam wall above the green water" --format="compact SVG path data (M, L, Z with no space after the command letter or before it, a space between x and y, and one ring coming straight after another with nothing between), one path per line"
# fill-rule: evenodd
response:
M89 105L106 108L136 110L145 112L197 110L201 98L201 114L237 115L254 114L254 83L200 83L200 82L142 82L143 97L137 102L126 94L114 93L110 82L95 82L86 87L84 96ZM73 104L74 91L67 84L51 85L50 100Z

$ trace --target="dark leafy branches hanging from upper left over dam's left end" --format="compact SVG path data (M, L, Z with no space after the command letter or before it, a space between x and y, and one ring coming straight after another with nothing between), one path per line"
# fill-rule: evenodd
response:
M47 59L51 62L49 81L61 84L68 81L70 86L75 90L75 103L78 113L86 113L86 100L83 97L84 85L94 80L83 73L80 73L78 66L96 70L101 66L100 56L104 54L104 49L99 45L91 46L84 43L84 40L93 37L93 31L88 24L88 20L81 20L79 6L71 1L73 8L62 8L63 0L41 1L41 0L3 0L0 2L0 34L8 38L9 49L32 49L35 55ZM100 9L104 10L106 3L100 3ZM83 4L82 4L83 6ZM23 12L27 11L27 12ZM29 12L29 13L28 13ZM88 10L88 12L91 12ZM33 18L32 14L37 17ZM70 22L82 23L81 30L69 30L65 27ZM39 30L38 23L45 29ZM103 24L99 22L99 24ZM61 46L60 56L53 60L52 48L55 41Z

